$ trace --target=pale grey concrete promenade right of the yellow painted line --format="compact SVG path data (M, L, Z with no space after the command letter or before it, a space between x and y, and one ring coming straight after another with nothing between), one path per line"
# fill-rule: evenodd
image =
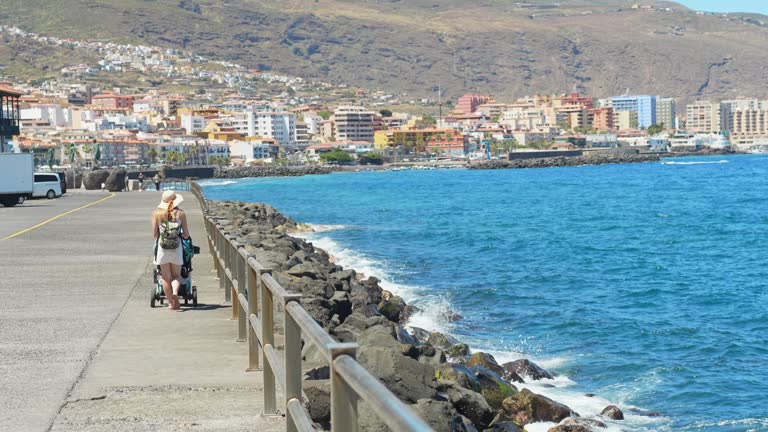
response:
M197 200L202 305L149 307L154 191L0 208L0 430L278 431L224 304ZM44 225L21 232L67 211ZM7 238L14 233L20 234ZM183 305L182 305L183 307Z

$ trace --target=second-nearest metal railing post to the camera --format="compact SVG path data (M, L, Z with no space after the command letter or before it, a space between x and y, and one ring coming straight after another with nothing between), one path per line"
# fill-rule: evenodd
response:
M301 327L288 313L291 302L301 304L301 294L288 294L283 297L283 316L285 317L285 407L288 432L297 432L293 416L288 411L291 399L301 402Z

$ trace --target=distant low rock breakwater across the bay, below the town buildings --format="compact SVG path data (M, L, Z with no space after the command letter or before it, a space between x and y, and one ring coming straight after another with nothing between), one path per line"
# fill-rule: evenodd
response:
M470 169L553 168L581 165L605 165L639 162L658 162L658 154L617 154L593 156L560 156L540 159L490 160L473 163Z

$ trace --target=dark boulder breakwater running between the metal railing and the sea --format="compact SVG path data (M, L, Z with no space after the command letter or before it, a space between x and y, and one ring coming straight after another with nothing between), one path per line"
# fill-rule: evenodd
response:
M528 380L552 378L528 360L499 364L487 353L470 355L466 344L449 335L406 329L415 308L383 290L376 278L336 265L322 249L290 235L308 226L266 204L210 201L209 211L249 254L273 269L283 287L303 295L304 308L332 336L357 342L360 363L436 431L522 431L542 421L558 423L553 432L605 427L602 420L581 418L520 388ZM328 430L328 366L311 347L303 354L305 403L316 427ZM606 414L616 419L613 408ZM361 430L389 430L364 402L359 413Z

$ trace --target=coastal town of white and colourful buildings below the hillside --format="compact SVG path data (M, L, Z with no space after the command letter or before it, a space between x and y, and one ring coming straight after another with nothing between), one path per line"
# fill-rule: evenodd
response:
M0 85L19 95L18 112L4 108L4 118L18 116L19 123L18 135L4 148L34 153L37 166L380 164L507 159L532 151L576 152L555 154L565 156L768 149L768 100L757 98L685 106L661 95L595 98L578 92L512 101L474 93L455 101L406 100L178 50L59 39L13 27L0 32L100 58L63 68L56 80L2 77ZM129 71L197 87L185 93L87 81L93 74ZM269 91L255 90L264 88ZM430 114L413 114L417 105Z

